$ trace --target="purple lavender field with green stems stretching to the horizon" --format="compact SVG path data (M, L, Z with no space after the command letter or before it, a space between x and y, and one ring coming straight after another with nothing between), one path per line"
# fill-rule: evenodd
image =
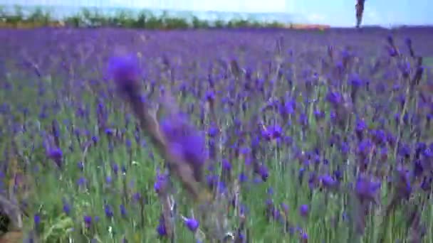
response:
M432 28L2 29L0 43L4 232L433 242Z

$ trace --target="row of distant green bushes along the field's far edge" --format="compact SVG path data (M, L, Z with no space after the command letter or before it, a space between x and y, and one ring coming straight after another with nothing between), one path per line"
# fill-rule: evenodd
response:
M122 27L147 29L184 29L184 28L286 28L291 26L277 21L263 22L251 19L233 19L230 21L207 21L192 16L191 19L169 16L167 12L156 16L150 11L135 14L130 11L118 11L114 15L103 14L95 9L83 8L75 15L63 19L53 18L48 10L37 8L32 13L24 14L21 6L14 11L0 7L0 27L31 28L42 26L81 27Z

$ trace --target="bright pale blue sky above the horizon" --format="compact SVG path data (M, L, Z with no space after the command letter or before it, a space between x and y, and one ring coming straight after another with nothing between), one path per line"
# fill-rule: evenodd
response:
M309 23L330 26L355 24L355 0L0 0L2 4L46 4L156 8L189 11L289 13ZM365 0L363 24L433 25L433 0Z

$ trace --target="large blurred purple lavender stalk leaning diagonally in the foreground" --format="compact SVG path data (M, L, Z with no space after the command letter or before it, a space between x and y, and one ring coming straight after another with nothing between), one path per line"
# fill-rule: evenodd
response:
M162 92L160 100L161 108L168 115L161 123L157 121L155 110L151 111L149 102L140 95L140 68L135 55L111 58L108 72L120 95L130 103L142 131L150 136L152 144L169 163L169 168L194 198L202 197L204 193L199 193L198 183L202 180L202 165L207 156L204 136L182 116L168 91Z

